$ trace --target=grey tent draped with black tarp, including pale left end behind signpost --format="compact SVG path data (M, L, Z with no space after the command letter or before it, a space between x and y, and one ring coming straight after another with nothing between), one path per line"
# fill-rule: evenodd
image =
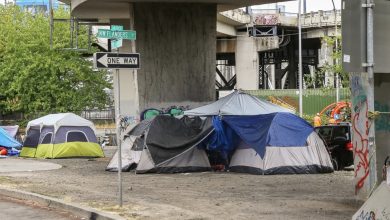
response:
M158 115L125 131L122 141L122 171L177 173L211 170L199 143L212 133L211 120L181 119ZM118 171L118 152L107 171Z

